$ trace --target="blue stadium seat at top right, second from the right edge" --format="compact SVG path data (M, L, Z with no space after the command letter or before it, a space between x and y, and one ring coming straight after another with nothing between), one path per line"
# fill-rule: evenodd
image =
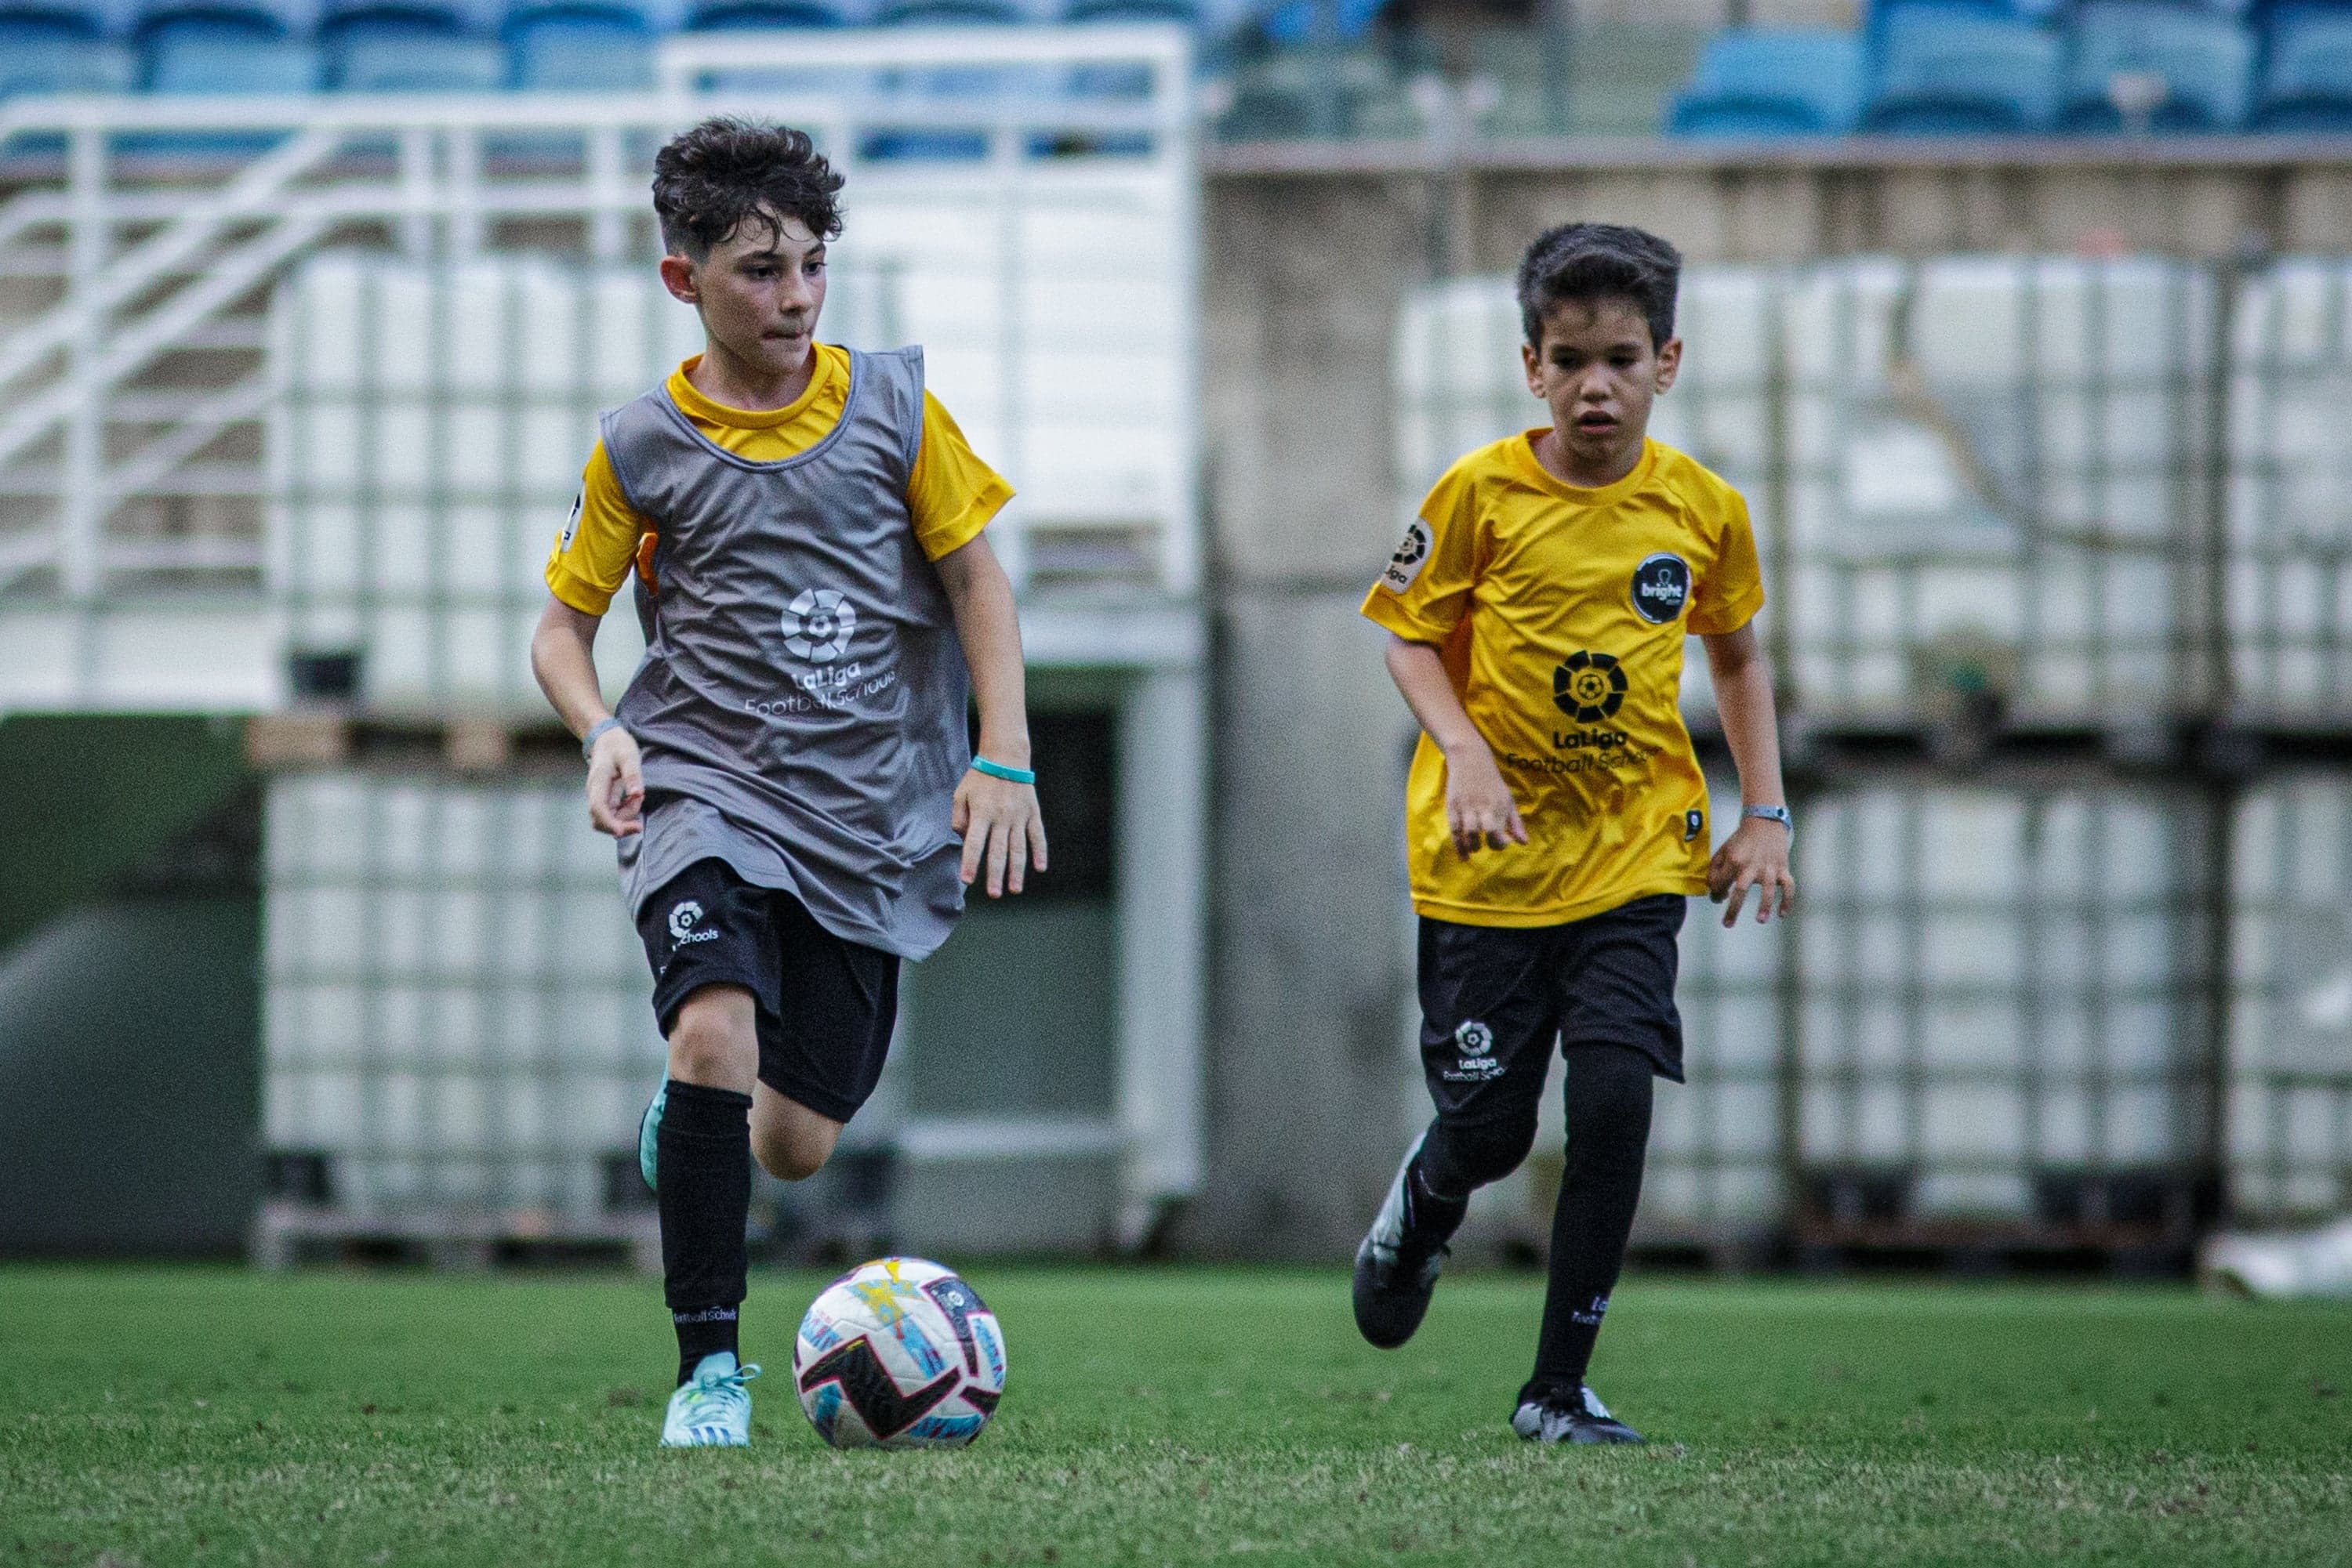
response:
M2154 129L2237 129L2253 108L2253 33L2164 0L2091 0L2067 24L2060 127L2124 129L2110 87L2126 73L2164 80L2164 101L2150 113Z

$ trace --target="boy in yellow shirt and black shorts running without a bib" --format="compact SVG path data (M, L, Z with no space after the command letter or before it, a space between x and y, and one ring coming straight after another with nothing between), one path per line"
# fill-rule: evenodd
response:
M1364 614L1421 722L1406 785L1421 914L1421 1060L1437 1117L1355 1260L1355 1321L1388 1349L1421 1326L1470 1192L1536 1138L1552 1041L1566 1168L1536 1373L1512 1429L1639 1443L1585 1387L1642 1194L1651 1079L1682 1081L1684 900L1788 914L1790 823L1764 604L1738 491L1646 435L1675 383L1682 256L1566 223L1519 261L1529 390L1550 425L1444 473ZM1745 809L1708 856L1708 790L1682 726L1684 637L1705 642Z

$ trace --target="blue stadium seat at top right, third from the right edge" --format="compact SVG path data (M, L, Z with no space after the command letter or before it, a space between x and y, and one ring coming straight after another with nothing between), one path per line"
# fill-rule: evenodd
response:
M1929 136L2039 132L2058 118L2058 80L2056 33L1905 5L1886 16L1863 127Z

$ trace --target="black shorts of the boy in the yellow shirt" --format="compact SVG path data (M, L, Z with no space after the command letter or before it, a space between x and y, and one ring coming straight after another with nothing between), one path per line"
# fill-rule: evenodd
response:
M1421 922L1421 1070L1437 1112L1522 1117L1543 1098L1552 1041L1628 1046L1682 1081L1675 938L1682 893L1564 926Z

